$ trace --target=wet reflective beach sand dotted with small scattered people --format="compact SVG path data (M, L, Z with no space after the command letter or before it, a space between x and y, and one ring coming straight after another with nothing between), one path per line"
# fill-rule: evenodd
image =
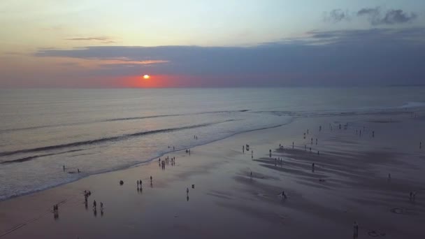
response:
M1 201L0 238L352 238L354 222L359 238L425 238L423 129L408 113L294 119L171 152L165 170L152 161Z

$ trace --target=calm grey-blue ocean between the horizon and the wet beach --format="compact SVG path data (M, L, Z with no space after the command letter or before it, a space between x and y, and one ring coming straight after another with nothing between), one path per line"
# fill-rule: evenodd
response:
M425 87L0 89L0 201L297 117L424 108Z

